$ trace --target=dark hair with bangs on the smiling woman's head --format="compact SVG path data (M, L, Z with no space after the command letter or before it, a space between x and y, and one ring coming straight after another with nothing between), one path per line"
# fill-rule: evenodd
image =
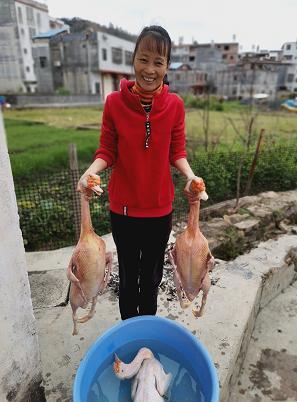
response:
M135 44L135 49L132 56L133 63L139 44L144 38L148 38L148 41L146 42L148 50L157 50L159 54L166 56L167 65L169 65L171 55L171 39L166 29L159 25L151 25L143 28Z

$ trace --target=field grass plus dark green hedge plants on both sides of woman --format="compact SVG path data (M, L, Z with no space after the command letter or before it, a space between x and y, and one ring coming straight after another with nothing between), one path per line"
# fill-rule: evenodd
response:
M236 103L233 106L228 103L228 107L228 112L209 112L209 152L204 150L203 110L189 109L186 114L191 165L207 181L210 198L205 206L235 198L239 165L239 190L243 194L257 137L263 127L264 142L260 148L251 193L296 188L297 116L286 112L259 113L256 116ZM80 169L83 171L92 161L98 145L101 116L102 110L98 108L4 112L20 222L27 250L57 248L75 243L68 145L76 144ZM94 128L81 130L90 126ZM187 204L182 195L184 180L180 174L173 173L176 184L174 219L180 221L187 213ZM102 176L105 186L109 174L107 171ZM92 205L93 224L99 234L109 231L107 204L105 192L105 198Z

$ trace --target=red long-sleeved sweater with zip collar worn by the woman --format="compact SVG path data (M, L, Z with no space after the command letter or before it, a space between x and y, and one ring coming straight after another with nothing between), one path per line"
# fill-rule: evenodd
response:
M111 211L134 217L164 216L172 211L174 198L170 164L186 157L184 104L164 85L146 113L139 96L129 90L133 84L123 79L120 91L107 96L95 158L112 166ZM147 120L151 135L145 148Z

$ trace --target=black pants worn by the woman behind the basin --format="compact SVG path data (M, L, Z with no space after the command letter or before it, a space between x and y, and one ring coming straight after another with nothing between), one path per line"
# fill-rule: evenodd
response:
M122 320L155 315L172 214L134 218L110 212L110 218L119 262Z

